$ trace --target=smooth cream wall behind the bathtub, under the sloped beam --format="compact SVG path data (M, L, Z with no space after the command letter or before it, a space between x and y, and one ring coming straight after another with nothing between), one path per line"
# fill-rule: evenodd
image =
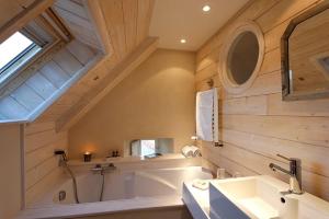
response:
M132 139L173 138L174 149L195 132L195 54L156 50L69 129L69 157L83 151L123 154Z

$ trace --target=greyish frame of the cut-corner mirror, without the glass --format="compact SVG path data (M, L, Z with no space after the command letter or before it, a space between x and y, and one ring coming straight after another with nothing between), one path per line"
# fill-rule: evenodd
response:
M291 77L290 77L290 57L288 57L288 39L293 34L296 26L304 21L311 19L313 16L329 9L329 2L322 2L318 5L307 10L295 19L291 20L283 36L281 37L281 76L282 76L282 100L283 101L299 101L299 100L311 100L311 99L324 99L329 97L328 91L307 91L298 92L294 94L291 91Z

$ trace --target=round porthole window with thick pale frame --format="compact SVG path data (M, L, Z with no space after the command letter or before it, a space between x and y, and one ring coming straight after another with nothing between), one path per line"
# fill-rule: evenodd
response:
M261 30L253 22L245 22L229 34L223 44L219 77L229 93L241 93L254 81L264 54Z

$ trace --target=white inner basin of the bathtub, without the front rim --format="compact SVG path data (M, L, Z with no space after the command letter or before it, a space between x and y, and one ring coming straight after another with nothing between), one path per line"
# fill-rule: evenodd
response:
M136 171L118 169L105 173L104 176L102 201L168 195L181 196L184 181L212 178L212 174L201 166ZM79 201L100 201L101 183L102 176L91 171L83 171L77 174ZM59 192L66 193L64 200L59 200ZM38 201L38 206L50 204L75 204L72 181L70 178L56 187L52 195L48 195L48 198L43 198L43 201Z

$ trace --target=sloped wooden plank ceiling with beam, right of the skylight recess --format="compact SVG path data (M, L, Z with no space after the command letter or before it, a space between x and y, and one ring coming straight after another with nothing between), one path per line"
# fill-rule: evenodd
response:
M88 3L107 54L37 119L55 120L57 129L67 128L83 116L97 103L93 100L99 100L120 83L157 47L157 38L148 37L154 0L73 2Z

